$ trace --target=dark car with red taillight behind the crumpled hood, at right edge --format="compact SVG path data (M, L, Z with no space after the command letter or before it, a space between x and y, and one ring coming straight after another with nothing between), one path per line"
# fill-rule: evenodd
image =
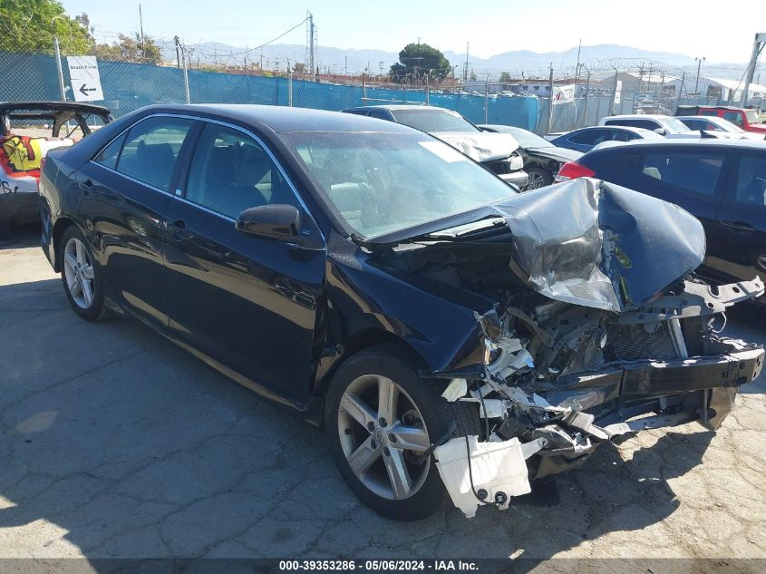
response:
M558 180L587 176L672 201L702 221L714 283L766 279L766 147L758 141L635 142L590 151ZM766 304L761 298L759 303Z

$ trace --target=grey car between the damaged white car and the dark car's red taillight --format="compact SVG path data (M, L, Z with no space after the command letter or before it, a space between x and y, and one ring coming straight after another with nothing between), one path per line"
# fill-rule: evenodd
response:
M524 160L524 170L529 181L524 190L537 190L553 183L558 170L567 161L577 161L581 151L558 148L536 133L509 125L484 124L477 126L483 131L509 133L519 141L519 150Z

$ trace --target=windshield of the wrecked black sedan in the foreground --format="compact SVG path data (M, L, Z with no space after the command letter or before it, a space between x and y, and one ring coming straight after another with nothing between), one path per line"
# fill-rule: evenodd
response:
M287 133L325 198L356 235L376 238L517 192L441 141L419 133Z

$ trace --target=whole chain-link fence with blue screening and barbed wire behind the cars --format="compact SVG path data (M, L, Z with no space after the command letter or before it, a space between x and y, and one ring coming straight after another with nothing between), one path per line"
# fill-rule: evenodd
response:
M96 103L110 108L114 116L152 103L258 103L331 111L383 103L430 104L460 112L474 123L512 125L539 134L596 125L612 113L673 114L679 103L727 103L721 97L690 96L688 79L684 92L683 77L679 86L674 71L657 72L655 67L647 73L643 64L637 71L620 71L614 65L590 63L592 70L581 65L574 77L562 71L565 75L552 82L521 73L520 80L502 83L490 83L489 76L484 82L460 83L454 77L435 81L426 75L416 84L400 84L390 83L383 73L312 74L304 64L293 61L291 67L287 58L286 65L269 69L268 62L264 67L248 60L247 54L239 59L210 56L178 39L155 39L152 45L157 51L151 58L144 51L120 50L116 44L95 51L104 94L104 100ZM78 54L78 46L63 43L61 49L64 98L73 101L78 87L72 85L66 57ZM596 70L596 65L601 67ZM300 73L296 72L298 66ZM607 68L612 69L611 77ZM604 73L599 76L598 71ZM559 97L564 93L566 97ZM0 52L0 101L60 99L53 35L50 49L20 44L17 51Z

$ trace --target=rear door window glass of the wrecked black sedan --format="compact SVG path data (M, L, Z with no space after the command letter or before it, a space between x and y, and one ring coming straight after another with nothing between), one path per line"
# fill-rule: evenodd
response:
M137 123L125 136L114 169L160 190L170 191L170 179L191 125L191 120L164 116Z

